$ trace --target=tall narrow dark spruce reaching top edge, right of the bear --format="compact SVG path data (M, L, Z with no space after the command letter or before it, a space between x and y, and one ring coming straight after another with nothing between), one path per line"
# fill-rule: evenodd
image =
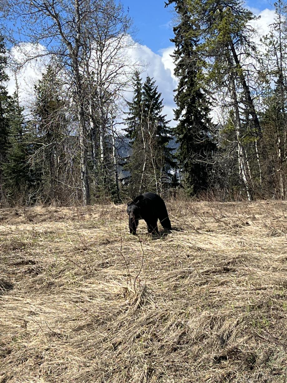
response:
M178 121L174 129L179 142L177 155L188 192L197 193L209 186L215 144L210 139L210 109L200 82L202 62L197 55L197 25L186 0L169 0L166 6L171 4L179 17L171 39L176 48L174 74L179 79L174 97L177 105L175 120Z

